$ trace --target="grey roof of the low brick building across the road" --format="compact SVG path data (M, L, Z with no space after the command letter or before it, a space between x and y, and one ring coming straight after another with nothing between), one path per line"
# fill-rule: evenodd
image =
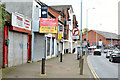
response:
M93 30L95 32L97 32L98 34L104 36L105 38L108 39L118 39L118 35L115 33L111 33L111 32L105 32L105 31L98 31L98 30Z

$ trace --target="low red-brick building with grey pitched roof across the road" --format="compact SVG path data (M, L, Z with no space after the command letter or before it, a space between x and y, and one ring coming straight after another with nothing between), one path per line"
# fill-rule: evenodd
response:
M83 40L86 39L86 34L83 35ZM93 45L99 44L101 40L103 45L107 48L110 46L119 45L118 35L115 33L98 31L98 30L90 30L88 31L88 40L89 43L93 43Z

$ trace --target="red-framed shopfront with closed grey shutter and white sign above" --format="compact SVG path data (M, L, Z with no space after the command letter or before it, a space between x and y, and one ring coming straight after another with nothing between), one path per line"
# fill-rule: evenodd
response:
M12 67L28 61L28 36L31 33L31 19L19 13L12 13L12 22L4 27L3 67Z

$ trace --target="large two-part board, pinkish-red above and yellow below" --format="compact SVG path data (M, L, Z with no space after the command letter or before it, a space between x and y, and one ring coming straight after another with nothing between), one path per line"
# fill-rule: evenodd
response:
M40 18L40 33L57 33L58 19L54 18Z

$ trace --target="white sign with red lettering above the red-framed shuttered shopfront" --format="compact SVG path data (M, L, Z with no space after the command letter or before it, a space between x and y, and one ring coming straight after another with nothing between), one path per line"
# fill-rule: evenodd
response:
M12 13L12 26L31 31L31 19L19 13Z

